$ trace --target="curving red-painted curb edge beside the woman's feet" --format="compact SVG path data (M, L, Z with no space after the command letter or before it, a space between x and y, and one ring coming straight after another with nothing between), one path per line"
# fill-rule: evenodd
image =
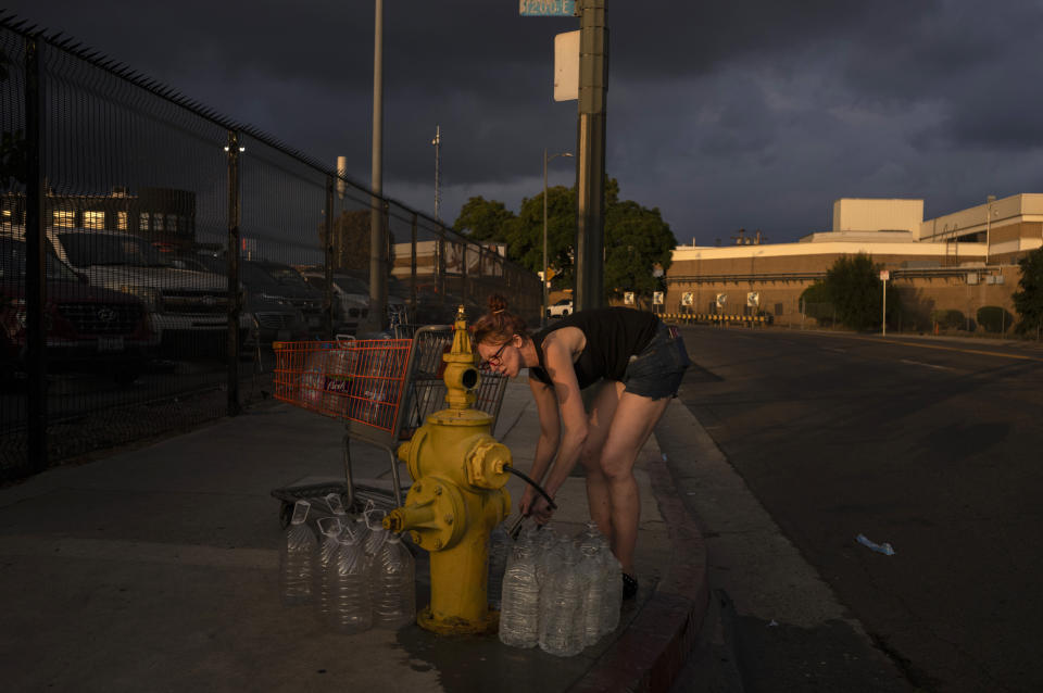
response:
M678 403L671 402L671 406ZM657 454L646 466L673 545L655 593L619 639L570 690L668 691L695 648L709 605L706 544L676 493L670 469Z

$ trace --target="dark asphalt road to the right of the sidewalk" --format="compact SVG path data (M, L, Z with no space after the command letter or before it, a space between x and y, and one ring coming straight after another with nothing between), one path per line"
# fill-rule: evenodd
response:
M682 401L913 686L1043 690L1043 350L712 327L684 338L695 366Z

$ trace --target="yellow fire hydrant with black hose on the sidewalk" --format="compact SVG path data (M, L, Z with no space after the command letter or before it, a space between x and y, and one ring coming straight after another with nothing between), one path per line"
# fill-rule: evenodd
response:
M489 534L511 513L511 451L491 436L492 416L472 408L478 368L464 307L456 315L445 361L445 403L399 446L414 482L405 505L384 526L410 530L431 558L431 603L417 615L422 628L441 634L482 633L498 625L488 590Z

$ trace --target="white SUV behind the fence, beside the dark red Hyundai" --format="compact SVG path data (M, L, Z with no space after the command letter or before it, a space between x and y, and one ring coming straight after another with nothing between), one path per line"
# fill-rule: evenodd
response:
M228 326L228 281L196 269L180 269L152 244L133 234L48 229L58 256L90 284L130 293L149 310L152 330L164 345L209 337L221 343ZM242 323L240 328L249 327Z

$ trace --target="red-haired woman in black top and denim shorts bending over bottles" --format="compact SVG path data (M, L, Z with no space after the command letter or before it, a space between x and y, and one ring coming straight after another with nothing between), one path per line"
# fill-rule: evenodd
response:
M500 295L490 297L489 313L472 329L485 367L508 377L528 368L540 419L530 476L554 497L582 463L591 519L608 538L624 594L632 597L640 514L633 464L690 364L683 341L655 315L625 307L580 311L530 336ZM580 390L600 380L606 382L587 412ZM530 486L518 506L540 524L553 513Z

